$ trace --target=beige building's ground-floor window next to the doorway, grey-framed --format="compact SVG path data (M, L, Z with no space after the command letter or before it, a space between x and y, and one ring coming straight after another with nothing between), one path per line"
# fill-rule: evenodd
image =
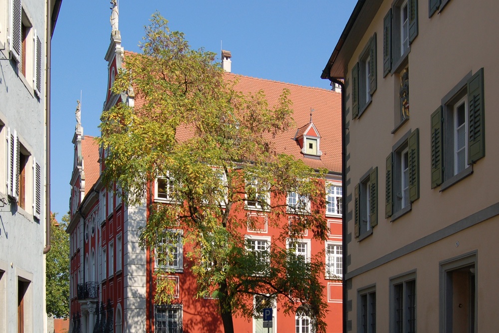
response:
M416 333L416 272L390 279L390 332Z

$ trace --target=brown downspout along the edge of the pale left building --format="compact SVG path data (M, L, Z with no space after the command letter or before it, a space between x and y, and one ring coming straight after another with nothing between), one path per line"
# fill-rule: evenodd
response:
M46 68L46 79L45 79L45 119L46 119L46 137L45 146L47 149L46 154L46 165L45 165L45 247L43 248L43 254L47 254L50 251L50 228L51 228L51 212L50 212L50 73L51 73L51 52L52 52L52 33L55 27L55 22L57 21L57 16L59 14L59 9L62 0L56 0L54 4L54 13L57 13L56 17L52 17L52 12L50 11L51 1L47 1L47 26L45 32L45 39L47 45L47 68Z

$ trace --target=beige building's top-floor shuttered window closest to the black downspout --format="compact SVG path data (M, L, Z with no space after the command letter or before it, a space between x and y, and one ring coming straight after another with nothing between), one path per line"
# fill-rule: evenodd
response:
M352 117L360 117L377 88L376 33L362 50L352 69Z

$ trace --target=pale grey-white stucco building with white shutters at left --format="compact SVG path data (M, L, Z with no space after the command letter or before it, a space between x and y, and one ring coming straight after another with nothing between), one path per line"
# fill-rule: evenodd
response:
M0 0L0 332L46 331L50 39L61 2Z

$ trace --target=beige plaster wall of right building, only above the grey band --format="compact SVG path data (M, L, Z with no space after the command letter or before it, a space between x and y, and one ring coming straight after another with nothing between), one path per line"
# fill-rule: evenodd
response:
M409 54L410 120L395 134L391 134L394 129L393 110L398 105L400 83L396 75L388 74L383 78L382 57L383 18L390 7L391 1L384 1L347 71L347 81L350 81L352 66L376 31L378 86L372 103L360 119L351 120L351 99L347 101L350 109L347 115L350 135L347 147L350 154L347 179L350 179L350 184L347 193L352 195L360 177L370 167L378 166L379 223L373 235L360 243L352 235L353 241L349 244L352 263L349 271L499 201L497 187L491 186L494 184L491 184L492 180L496 180L497 184L499 162L499 150L495 149L495 143L499 142L499 131L495 130L495 124L499 124L499 116L495 112L499 104L499 95L495 92L495 78L499 76L499 45L491 42L499 39L499 29L494 25L499 1L452 0L441 14L435 14L431 19L428 18L427 1L419 1L419 34ZM432 190L430 115L441 104L441 99L467 73L475 73L481 67L485 68L486 156L473 166L474 173L468 178L445 192L439 192L440 187ZM347 94L351 95L351 84L348 85ZM386 157L407 131L416 128L420 131L420 198L412 204L411 212L392 223L384 218ZM348 211L352 212L348 230L353 233L353 200Z

